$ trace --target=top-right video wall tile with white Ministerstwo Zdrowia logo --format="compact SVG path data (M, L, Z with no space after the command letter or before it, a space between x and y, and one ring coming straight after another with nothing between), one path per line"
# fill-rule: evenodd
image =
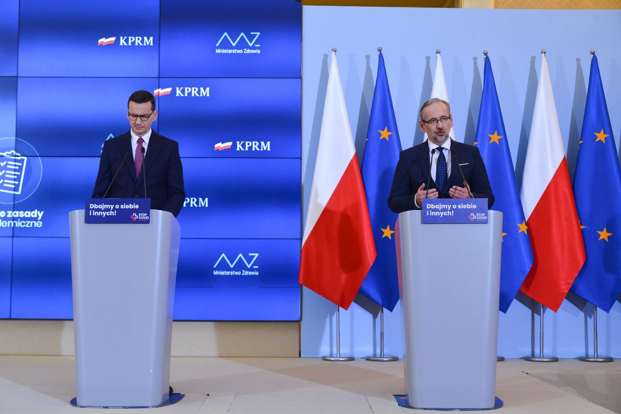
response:
M301 16L299 1L162 0L160 76L299 78Z

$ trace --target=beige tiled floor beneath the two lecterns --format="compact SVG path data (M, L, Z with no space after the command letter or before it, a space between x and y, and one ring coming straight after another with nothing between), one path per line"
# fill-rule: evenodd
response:
M496 395L501 413L610 413L570 388L558 388L527 372L584 371L617 374L621 362L589 364L575 360L498 363ZM0 413L103 413L127 410L74 408L73 358L0 356ZM602 374L603 375L603 374ZM325 362L310 358L173 358L171 384L186 397L150 413L392 414L414 411L397 406L404 393L398 362ZM616 392L616 390L609 390ZM209 394L209 396L207 396ZM130 410L131 413L145 410Z

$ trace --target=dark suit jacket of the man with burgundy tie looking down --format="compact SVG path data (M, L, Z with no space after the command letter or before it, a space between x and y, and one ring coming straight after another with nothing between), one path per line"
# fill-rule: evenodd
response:
M124 165L121 166L121 163ZM119 169L119 174L114 179L106 198L144 198L143 174L141 171L140 177L136 177L134 156L132 156L132 137L129 132L104 143L93 198L104 196L117 169ZM169 211L176 217L186 198L179 144L152 131L143 169L147 179L147 198L151 199L151 208Z

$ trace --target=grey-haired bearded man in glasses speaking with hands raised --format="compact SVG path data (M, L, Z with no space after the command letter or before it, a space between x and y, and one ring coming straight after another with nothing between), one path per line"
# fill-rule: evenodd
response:
M427 133L427 141L399 154L388 207L401 213L420 209L424 198L451 197L486 198L488 208L491 208L494 195L479 149L448 136L453 127L448 102L429 99L420 108L419 115L420 130ZM460 166L466 181L461 177ZM429 176L427 192L425 186Z

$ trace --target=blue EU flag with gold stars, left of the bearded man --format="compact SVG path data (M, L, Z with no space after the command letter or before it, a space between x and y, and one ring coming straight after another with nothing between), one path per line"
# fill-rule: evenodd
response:
M401 140L394 118L384 56L380 52L361 171L378 257L366 275L360 293L391 312L399 301L394 243L397 214L388 208L387 200L399 152Z

